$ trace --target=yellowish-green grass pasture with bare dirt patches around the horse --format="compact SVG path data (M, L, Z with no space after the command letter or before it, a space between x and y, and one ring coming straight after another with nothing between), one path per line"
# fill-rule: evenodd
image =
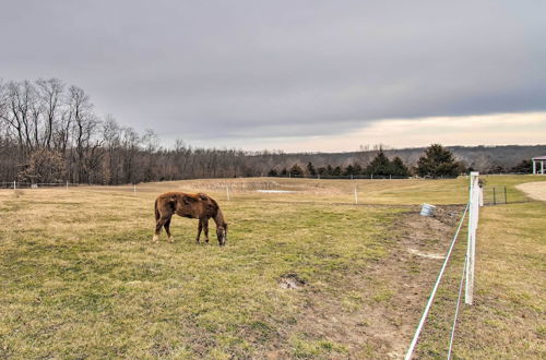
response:
M517 202L526 196L514 187L537 180L487 183L507 185ZM466 179L259 178L149 183L136 193L1 190L0 358L400 358L466 188ZM176 242L163 233L153 244L153 201L167 190L215 197L227 247L213 237L195 244L195 220L179 217ZM423 202L443 206L420 217ZM455 358L546 356L545 217L542 202L483 209L476 304L461 313ZM418 357L444 357L462 252Z

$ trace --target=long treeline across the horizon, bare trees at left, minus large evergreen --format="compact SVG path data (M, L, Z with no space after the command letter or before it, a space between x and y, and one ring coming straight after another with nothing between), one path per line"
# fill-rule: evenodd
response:
M459 169L529 172L546 146L450 147ZM541 154L544 153L544 154ZM0 181L122 184L194 178L297 175L415 173L424 148L323 154L159 146L153 130L138 133L99 116L90 96L57 79L0 82ZM519 166L519 168L515 168Z

